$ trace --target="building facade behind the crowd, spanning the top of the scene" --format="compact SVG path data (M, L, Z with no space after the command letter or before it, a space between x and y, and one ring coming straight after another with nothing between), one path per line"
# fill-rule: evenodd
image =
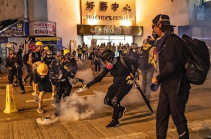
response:
M140 46L143 39L151 35L152 19L157 14L169 15L171 23L177 26L175 33L179 35L187 33L193 37L211 38L209 31L211 19L208 18L211 17L210 0L26 1L29 23L33 21L55 23L54 37L61 37L62 45L66 48L76 49L77 45L83 42L90 45L92 39L97 39L98 44L103 41L111 41L116 45L118 42L136 42ZM0 22L24 16L24 0L0 0ZM82 25L88 28L94 26L95 28L89 30L95 34L84 32L84 28L80 31L78 28ZM204 25L206 27L203 27ZM130 28L132 26L138 27L139 33L125 32L132 30ZM100 32L102 30L104 33ZM108 30L111 32L108 33ZM30 32L29 35L31 36Z

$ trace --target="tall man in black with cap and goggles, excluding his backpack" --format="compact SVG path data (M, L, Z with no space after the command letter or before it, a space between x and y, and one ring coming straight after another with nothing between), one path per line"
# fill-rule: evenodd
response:
M185 77L185 51L183 41L173 34L168 15L157 15L153 19L153 31L160 37L156 43L160 73L152 83L161 84L156 116L158 139L165 139L171 115L180 139L188 139L185 106L189 97L190 83Z

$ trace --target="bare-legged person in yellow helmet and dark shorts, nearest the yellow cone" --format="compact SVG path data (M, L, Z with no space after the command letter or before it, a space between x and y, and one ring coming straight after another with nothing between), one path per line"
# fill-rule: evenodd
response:
M37 64L36 64L37 63ZM48 66L42 62L36 62L37 68L34 70L34 84L35 93L39 96L38 99L38 113L44 113L42 109L42 99L46 92L51 92L51 82L49 80Z

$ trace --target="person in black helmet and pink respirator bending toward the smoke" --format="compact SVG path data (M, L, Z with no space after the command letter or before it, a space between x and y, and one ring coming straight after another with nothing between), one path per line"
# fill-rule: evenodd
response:
M132 53L132 52L131 52ZM132 55L131 55L132 56ZM130 55L125 57L114 57L114 53L111 50L105 50L101 59L105 63L105 68L100 75L95 77L91 82L84 86L89 88L93 84L100 82L108 72L114 77L113 84L108 88L108 92L105 96L104 103L113 107L113 117L110 124L107 127L116 127L119 125L119 120L122 118L126 108L120 105L121 100L132 88L132 80L137 70L138 55L136 57ZM121 60L120 60L121 59ZM133 67L129 70L123 65L124 61L127 66Z

